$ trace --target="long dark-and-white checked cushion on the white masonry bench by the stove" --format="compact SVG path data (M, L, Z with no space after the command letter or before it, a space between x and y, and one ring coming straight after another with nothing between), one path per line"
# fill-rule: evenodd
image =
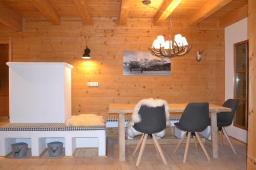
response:
M64 123L9 123L0 127L0 131L90 131L105 129L105 126L67 127Z

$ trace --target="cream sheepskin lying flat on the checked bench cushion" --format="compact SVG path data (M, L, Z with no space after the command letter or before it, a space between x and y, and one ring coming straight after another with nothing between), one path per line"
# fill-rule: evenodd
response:
M66 126L104 126L105 120L103 116L96 114L79 114L77 116L71 116L67 120Z

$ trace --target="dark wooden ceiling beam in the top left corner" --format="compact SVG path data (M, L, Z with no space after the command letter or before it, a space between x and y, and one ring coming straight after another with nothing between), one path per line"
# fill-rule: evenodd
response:
M23 29L22 16L6 6L2 1L0 1L0 22L15 31L22 31Z

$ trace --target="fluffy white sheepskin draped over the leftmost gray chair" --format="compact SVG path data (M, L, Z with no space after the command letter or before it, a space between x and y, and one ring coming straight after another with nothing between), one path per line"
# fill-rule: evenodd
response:
M133 128L133 125L135 123L139 123L141 121L140 115L138 114L140 107L142 105L145 105L147 107L160 107L160 106L164 106L165 108L165 116L166 116L166 126L170 126L170 122L169 122L169 108L168 108L168 104L166 101L161 100L161 99L143 99L141 101L139 101L139 103L135 106L133 114L132 114L132 119L130 120L129 123L127 123L127 133L130 137L134 137L137 135L141 135L141 132L136 131ZM162 138L165 134L165 130L156 133L156 137L157 138Z

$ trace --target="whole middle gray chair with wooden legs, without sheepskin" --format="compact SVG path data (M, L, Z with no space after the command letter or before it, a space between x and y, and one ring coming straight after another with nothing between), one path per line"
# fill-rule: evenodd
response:
M199 152L198 146L197 146L197 140L198 140L207 160L210 161L207 151L205 150L204 145L197 133L197 132L201 132L201 131L205 130L208 126L208 122L209 122L209 104L208 103L189 103L186 106L186 108L180 118L180 121L178 123L175 123L175 126L178 129L185 131L185 133L182 136L179 143L177 144L177 147L175 148L174 153L176 153L176 151L179 149L182 141L187 136L186 148L185 148L185 153L184 153L184 157L183 157L183 163L186 162L189 141L190 141L191 136L194 138L196 151Z

